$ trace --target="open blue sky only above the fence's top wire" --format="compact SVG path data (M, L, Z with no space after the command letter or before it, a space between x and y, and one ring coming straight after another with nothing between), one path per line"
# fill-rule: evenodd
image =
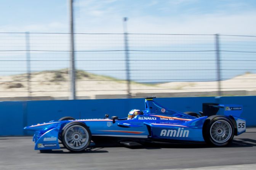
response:
M68 32L67 0L1 0L0 32ZM77 33L256 35L255 0L74 0ZM3 17L4 16L4 17Z

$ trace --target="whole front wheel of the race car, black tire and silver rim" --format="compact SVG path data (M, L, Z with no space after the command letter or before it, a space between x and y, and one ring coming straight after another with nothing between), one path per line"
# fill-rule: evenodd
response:
M61 141L69 151L80 152L90 145L91 131L82 122L70 122L62 129Z

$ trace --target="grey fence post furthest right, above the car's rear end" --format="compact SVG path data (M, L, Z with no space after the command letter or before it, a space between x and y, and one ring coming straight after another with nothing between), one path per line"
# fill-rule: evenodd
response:
M219 54L219 34L215 35L216 39L216 62L217 62L217 81L218 81L218 96L221 96L221 63Z

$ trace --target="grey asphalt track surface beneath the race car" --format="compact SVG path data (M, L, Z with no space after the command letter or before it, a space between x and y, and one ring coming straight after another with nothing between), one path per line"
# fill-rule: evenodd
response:
M153 144L139 148L96 147L83 153L34 150L32 137L0 137L0 170L234 170L256 169L256 128L230 146Z

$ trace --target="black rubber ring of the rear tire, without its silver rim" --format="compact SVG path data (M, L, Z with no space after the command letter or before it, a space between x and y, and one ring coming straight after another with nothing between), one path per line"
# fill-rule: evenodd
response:
M221 120L229 123L231 130L232 130L229 140L227 140L224 143L218 143L218 142L214 141L210 134L211 126L215 122L221 121ZM203 126L203 138L207 144L214 145L214 146L225 146L225 145L228 145L230 143L230 141L232 141L233 137L234 137L234 125L233 125L232 121L230 121L229 118L227 118L225 116L214 115L214 116L210 116L209 118L206 119L205 125Z

